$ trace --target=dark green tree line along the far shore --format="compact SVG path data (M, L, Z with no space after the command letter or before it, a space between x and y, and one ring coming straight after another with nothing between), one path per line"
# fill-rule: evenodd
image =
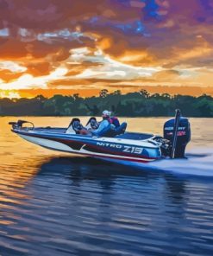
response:
M213 98L168 93L149 94L146 90L122 94L117 90L100 91L99 96L82 98L78 93L71 96L54 95L33 99L0 99L1 116L98 116L105 109L119 117L166 117L173 116L176 108L187 117L213 117Z

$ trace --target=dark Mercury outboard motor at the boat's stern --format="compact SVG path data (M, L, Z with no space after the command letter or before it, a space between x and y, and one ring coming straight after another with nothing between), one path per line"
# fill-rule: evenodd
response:
M168 154L171 158L184 158L185 147L191 140L191 127L188 118L181 117L180 110L176 110L175 118L166 121L164 138L169 141Z

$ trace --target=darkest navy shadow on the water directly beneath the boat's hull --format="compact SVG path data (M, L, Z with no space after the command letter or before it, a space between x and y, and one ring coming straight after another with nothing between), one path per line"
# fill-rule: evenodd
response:
M102 189L112 189L115 179L125 177L142 177L143 179L157 178L159 173L109 163L91 157L54 157L43 163L38 175L64 175L73 186L81 186L82 182L97 182Z

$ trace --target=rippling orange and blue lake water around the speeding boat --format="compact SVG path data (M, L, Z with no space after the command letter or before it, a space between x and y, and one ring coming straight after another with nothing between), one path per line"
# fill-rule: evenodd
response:
M143 168L29 144L16 119L0 118L0 255L213 255L213 119L191 118L188 159ZM128 118L128 131L165 120Z

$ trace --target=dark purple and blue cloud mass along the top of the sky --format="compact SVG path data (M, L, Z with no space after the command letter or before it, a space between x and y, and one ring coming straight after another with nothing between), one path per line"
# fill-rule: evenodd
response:
M10 36L16 37L20 28L37 35L59 29L74 31L79 25L85 33L110 38L107 51L115 56L126 48L147 48L160 58L173 45L187 40L193 45L200 26L213 22L209 0L0 0L0 6L0 23L9 28Z

